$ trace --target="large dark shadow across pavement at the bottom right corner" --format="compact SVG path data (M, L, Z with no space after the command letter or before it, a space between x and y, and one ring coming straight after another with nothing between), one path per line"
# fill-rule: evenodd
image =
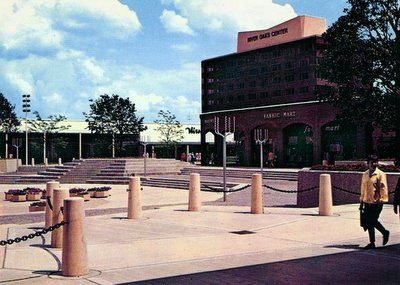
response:
M355 245L332 245L354 249ZM358 247L357 247L358 248ZM124 284L399 284L400 246Z

